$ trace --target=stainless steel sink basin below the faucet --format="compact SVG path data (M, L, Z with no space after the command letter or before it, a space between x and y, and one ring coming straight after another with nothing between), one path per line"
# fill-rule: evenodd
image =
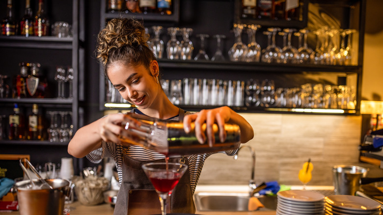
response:
M194 194L197 211L248 211L249 198L247 193L199 192ZM259 196L258 200L265 206L258 209L259 211L276 210L276 196Z

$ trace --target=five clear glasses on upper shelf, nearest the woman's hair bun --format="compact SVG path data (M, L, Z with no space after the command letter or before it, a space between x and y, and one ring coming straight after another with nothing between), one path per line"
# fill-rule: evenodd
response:
M149 29L146 28L147 32ZM210 36L208 34L197 34L196 36L201 40L201 46L198 53L192 58L193 54L193 43L190 40L190 35L193 32L192 28L178 28L178 27L168 27L167 33L170 35L170 40L167 41L166 46L164 46L164 41L160 39L160 34L163 30L162 26L152 26L151 30L154 37L149 41L149 47L152 49L153 53L158 59L164 58L164 51L166 48L166 58L167 59L181 59L181 60L209 60L209 56L205 52L205 40ZM182 41L177 39L177 35L182 35ZM221 40L226 38L225 35L216 34L213 36L217 39L217 51L211 60L225 60L222 51L221 51Z

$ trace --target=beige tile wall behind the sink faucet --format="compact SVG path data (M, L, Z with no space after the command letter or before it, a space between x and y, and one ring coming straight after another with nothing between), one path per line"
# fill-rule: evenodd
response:
M242 114L254 129L247 142L256 151L257 184L277 180L280 184L299 185L299 170L309 158L314 169L308 185L332 185L331 167L357 164L361 116ZM247 184L251 156L248 149L238 160L224 154L207 159L199 185Z

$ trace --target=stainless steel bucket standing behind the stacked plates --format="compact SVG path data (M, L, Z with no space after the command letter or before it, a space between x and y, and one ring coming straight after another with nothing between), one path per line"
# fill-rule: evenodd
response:
M334 192L336 195L355 195L359 190L360 178L366 177L368 168L353 165L332 167Z

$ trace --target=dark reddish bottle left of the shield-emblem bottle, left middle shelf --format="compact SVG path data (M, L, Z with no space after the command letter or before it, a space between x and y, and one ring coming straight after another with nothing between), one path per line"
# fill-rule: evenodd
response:
M17 75L13 81L13 98L27 98L27 77L29 72L29 63L21 62L20 74Z

